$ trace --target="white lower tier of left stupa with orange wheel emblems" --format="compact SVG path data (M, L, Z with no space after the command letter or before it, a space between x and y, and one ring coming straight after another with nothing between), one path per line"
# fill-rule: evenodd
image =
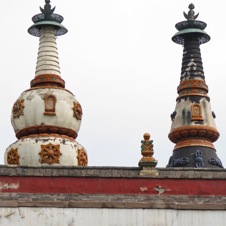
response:
M74 139L57 134L27 136L11 144L5 154L7 165L86 166L85 148Z

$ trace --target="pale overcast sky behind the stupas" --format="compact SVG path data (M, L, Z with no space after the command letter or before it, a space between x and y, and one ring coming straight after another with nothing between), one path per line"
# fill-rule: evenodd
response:
M166 166L180 79L182 47L171 41L188 11L186 0L52 0L69 32L57 39L62 78L83 107L77 138L89 165L137 166L145 132L154 140L158 167ZM226 32L224 0L193 1L207 23L201 46L212 110L221 134L215 143L226 166ZM11 109L35 76L38 38L27 29L44 0L1 3L0 164L16 141ZM31 150L32 151L32 150Z

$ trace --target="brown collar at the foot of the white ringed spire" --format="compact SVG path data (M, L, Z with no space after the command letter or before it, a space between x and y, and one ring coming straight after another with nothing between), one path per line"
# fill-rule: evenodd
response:
M31 87L65 87L64 80L59 75L44 74L38 75L33 80L31 80Z

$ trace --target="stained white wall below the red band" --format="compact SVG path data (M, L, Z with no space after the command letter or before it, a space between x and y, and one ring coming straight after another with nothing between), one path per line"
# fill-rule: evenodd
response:
M0 208L1 226L225 226L225 211Z

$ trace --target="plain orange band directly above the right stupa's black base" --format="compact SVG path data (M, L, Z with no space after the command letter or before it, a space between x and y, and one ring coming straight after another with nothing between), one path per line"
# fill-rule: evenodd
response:
M178 148L184 148L184 147L190 147L190 146L202 146L202 147L209 147L212 149L215 149L214 145L205 139L187 139L187 140L182 140L180 142L178 142L175 147L174 150L178 149Z

